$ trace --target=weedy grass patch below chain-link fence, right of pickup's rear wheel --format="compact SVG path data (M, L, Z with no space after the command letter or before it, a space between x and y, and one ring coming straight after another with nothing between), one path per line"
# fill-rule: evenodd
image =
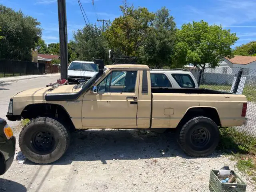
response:
M221 128L218 149L231 154L230 160L237 162L238 170L251 176L256 184L256 138L232 127Z

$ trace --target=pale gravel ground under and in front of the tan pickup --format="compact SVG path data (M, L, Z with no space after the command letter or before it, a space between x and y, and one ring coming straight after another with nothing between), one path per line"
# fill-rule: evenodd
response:
M0 191L204 192L211 169L234 169L235 164L220 152L208 158L186 156L172 132L86 130L72 133L72 138L66 154L53 164L14 160L0 178ZM255 192L240 175L246 191Z

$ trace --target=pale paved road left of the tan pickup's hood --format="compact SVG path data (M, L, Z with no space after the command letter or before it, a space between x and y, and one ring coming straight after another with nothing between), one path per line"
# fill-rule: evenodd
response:
M26 89L46 86L46 84L50 82L56 82L56 80L59 78L60 74L51 74L51 76L44 76L42 78L0 83L0 117L7 120L6 113L8 110L9 101L14 94ZM8 121L8 124L11 127L14 127L19 124L19 121Z

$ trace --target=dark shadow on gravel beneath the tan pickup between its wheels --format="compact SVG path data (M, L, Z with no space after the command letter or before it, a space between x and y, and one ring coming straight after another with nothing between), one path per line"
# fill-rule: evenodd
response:
M84 130L72 133L70 147L53 164L71 164L73 161L134 160L187 156L176 142L175 132L148 132L144 130ZM211 157L219 156L214 153ZM33 164L26 161L26 164Z

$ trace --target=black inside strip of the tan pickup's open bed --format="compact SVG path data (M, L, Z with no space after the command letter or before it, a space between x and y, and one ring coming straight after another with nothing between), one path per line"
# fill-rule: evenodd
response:
M151 88L152 93L186 93L186 94L234 94L204 88Z

